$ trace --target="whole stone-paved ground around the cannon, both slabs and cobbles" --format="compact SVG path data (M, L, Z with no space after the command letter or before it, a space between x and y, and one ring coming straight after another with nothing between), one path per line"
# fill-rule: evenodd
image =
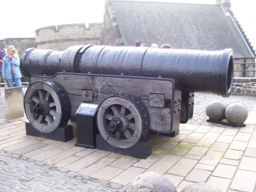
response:
M2 90L1 90L2 91ZM180 134L149 134L152 155L137 159L26 135L26 117L4 118L0 99L0 191L125 191L143 172L164 174L181 191L207 182L222 191L255 191L256 98L196 93L193 118L180 125ZM240 100L249 116L245 127L206 121L212 100Z

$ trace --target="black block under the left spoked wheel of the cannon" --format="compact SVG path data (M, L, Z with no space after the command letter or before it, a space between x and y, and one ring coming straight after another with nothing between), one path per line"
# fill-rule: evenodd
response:
M29 122L26 122L26 134L35 137L42 137L55 141L66 142L73 139L73 126L66 124L58 127L52 133L42 133L36 130Z

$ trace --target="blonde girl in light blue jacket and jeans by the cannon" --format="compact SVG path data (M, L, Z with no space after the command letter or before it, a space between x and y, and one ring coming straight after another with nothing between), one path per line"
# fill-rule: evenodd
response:
M22 87L20 78L22 74L19 71L19 57L14 46L9 46L6 50L6 56L3 58L2 75L4 82L7 82L9 88L13 88L13 82L16 87ZM22 90L24 100L25 93Z

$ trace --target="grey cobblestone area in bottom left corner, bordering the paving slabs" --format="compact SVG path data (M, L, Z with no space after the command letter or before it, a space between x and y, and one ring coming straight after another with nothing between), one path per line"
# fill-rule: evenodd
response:
M121 184L36 162L0 151L0 191L122 191Z

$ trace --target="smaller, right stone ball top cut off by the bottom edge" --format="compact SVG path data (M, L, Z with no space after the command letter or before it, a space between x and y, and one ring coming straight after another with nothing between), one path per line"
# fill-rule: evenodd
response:
M221 192L221 190L218 189L217 187L211 186L207 183L195 183L195 184L188 185L185 188L183 188L181 192L205 192L205 191Z

